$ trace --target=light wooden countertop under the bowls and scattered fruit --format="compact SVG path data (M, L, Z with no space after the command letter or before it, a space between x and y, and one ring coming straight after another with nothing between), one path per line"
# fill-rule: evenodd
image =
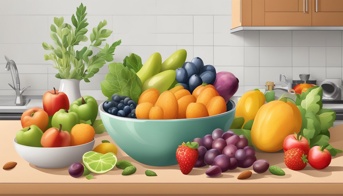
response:
M67 168L43 169L29 164L15 151L13 139L21 129L19 120L0 121L0 164L15 161L12 170L0 170L0 194L343 194L343 154L338 154L328 168L315 170L308 164L304 170L293 171L284 164L284 153L257 152L257 159L267 159L270 165L280 166L285 176L272 175L269 171L257 174L250 168L237 168L210 178L205 175L208 166L194 168L183 175L178 165L156 167L141 164L118 148L118 160L129 160L137 168L133 175L122 176L122 170L114 168L105 174L73 178ZM329 129L330 143L343 149L343 124ZM95 136L95 146L101 140L113 140L107 133ZM113 142L114 143L114 142ZM145 170L153 170L158 176L145 176ZM245 171L253 172L246 180L237 176ZM51 190L54 190L53 192Z

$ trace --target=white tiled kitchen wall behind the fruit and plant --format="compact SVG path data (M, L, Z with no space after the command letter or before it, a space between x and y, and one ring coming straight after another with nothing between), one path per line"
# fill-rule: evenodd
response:
M217 72L230 71L240 81L236 95L263 88L266 81L279 82L279 75L299 79L310 73L311 80L342 78L342 31L241 31L230 34L230 0L1 0L0 1L0 94L14 95L7 83L3 55L13 59L26 95L42 95L59 87L57 70L44 61L51 43L54 16L70 23L71 14L83 2L87 7L88 34L99 21L107 20L113 30L108 43L122 40L114 61L122 62L136 53L145 62L155 52L163 60L178 49L187 50L187 61L200 57ZM88 42L83 43L83 45ZM2 67L2 68L1 68ZM105 99L100 82L108 72L105 65L91 78L81 81L82 94ZM283 84L285 86L285 84Z

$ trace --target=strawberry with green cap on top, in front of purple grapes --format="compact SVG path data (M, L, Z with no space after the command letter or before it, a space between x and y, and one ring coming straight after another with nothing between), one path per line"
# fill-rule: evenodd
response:
M199 156L198 147L197 142L184 142L177 148L176 159L183 174L189 174L196 164Z

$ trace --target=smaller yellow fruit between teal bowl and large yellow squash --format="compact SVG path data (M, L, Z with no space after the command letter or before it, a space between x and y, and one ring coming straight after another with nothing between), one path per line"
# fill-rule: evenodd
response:
M259 91L248 91L239 99L236 107L236 117L244 117L244 124L255 119L260 107L265 102L264 94Z

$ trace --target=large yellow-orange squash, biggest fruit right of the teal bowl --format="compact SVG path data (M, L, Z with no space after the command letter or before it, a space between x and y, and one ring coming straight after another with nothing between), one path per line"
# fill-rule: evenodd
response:
M264 104L256 114L251 128L251 140L260 150L279 151L286 136L299 133L301 114L291 102L271 101Z

